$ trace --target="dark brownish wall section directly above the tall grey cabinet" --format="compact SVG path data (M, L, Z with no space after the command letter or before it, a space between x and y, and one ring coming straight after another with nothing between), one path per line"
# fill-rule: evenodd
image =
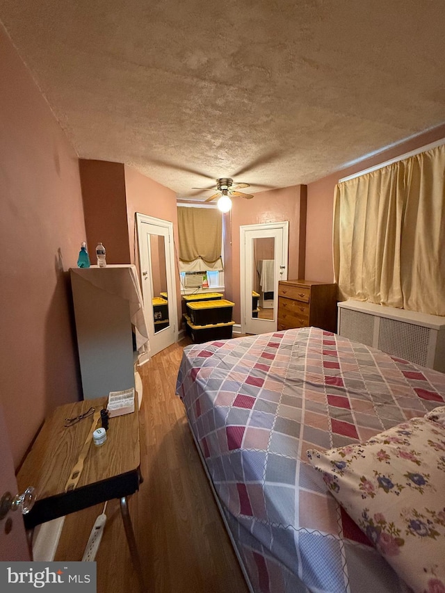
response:
M130 263L125 174L122 163L79 160L86 241L91 263L102 241L107 263Z

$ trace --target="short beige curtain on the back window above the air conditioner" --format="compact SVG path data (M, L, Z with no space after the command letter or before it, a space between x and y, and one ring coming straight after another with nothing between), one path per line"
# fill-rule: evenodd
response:
M178 208L179 261L222 270L223 215L213 208ZM204 271L204 270L202 270Z

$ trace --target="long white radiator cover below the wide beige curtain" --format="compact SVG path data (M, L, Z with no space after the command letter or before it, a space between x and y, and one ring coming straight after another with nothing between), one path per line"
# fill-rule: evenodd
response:
M338 308L341 336L445 373L445 317L356 300Z

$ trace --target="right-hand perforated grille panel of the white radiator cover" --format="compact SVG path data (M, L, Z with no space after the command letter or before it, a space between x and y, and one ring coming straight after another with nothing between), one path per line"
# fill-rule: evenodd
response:
M427 366L430 328L396 319L380 319L378 349L392 356Z

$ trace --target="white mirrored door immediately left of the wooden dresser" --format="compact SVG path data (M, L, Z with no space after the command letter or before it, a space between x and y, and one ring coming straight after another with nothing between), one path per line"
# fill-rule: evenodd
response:
M277 330L278 282L287 279L289 222L240 227L241 332Z

